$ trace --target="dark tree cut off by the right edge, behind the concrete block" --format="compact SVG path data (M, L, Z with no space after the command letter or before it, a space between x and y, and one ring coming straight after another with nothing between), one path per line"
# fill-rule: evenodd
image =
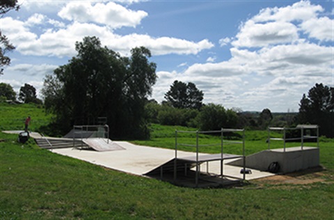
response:
M319 125L321 135L334 136L334 88L315 84L303 94L299 104L298 123Z

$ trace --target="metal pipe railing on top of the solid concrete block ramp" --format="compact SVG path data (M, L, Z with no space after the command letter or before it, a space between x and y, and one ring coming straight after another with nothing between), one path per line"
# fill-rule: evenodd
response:
M287 131L300 131L301 136L300 137L289 137L287 138ZM312 135L305 135L305 131L309 130L311 133L311 130L316 131L316 136ZM271 131L283 131L283 138L276 138L276 137L271 137ZM268 150L270 150L270 143L271 140L273 141L283 141L283 146L284 146L284 152L286 151L286 142L287 141L301 141L301 150L303 150L304 146L304 141L308 139L317 139L317 148L319 148L319 126L318 125L297 125L296 127L268 127Z

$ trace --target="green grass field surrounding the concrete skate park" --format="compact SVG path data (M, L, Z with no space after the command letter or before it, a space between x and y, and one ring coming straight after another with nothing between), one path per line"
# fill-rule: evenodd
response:
M50 117L30 105L0 108L1 130L22 129L27 113L33 131ZM175 129L186 129L151 128L150 141L134 142L173 148ZM246 132L247 153L264 150L266 138L267 132ZM316 173L318 182L256 180L243 187L190 189L56 155L32 139L22 145L17 135L0 132L0 219L333 219L333 148L333 139L321 139L326 170ZM315 174L299 178L309 175Z

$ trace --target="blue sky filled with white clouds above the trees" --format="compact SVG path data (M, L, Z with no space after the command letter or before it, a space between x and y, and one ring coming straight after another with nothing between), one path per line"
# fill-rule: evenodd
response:
M15 45L1 82L38 92L46 74L97 36L129 55L145 46L157 63L152 98L173 81L193 82L204 102L244 111L299 111L316 83L334 86L333 0L19 1L0 18Z

